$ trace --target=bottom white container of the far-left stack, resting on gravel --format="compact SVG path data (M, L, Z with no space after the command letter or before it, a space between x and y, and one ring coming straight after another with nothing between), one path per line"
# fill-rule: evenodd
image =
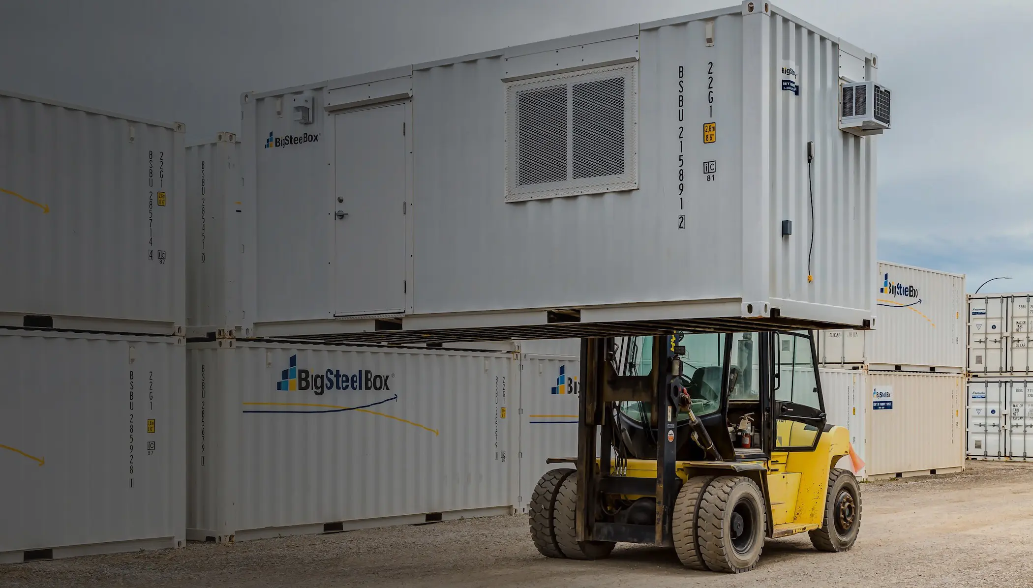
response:
M0 563L185 545L185 352L0 334Z

